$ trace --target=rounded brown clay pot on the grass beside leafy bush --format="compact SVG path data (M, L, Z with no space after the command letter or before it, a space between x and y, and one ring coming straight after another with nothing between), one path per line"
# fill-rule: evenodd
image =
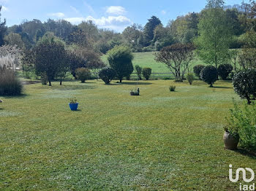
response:
M225 127L225 132L223 135L223 141L225 149L234 150L237 149L239 143L239 134L238 130L234 127Z

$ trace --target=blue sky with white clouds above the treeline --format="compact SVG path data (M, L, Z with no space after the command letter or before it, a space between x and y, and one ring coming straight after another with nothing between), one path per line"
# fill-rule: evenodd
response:
M226 0L226 4L241 4L242 0ZM145 26L152 15L165 26L169 20L188 12L200 12L206 0L0 0L1 17L7 26L23 20L64 19L72 24L92 20L99 28L121 32L138 23Z

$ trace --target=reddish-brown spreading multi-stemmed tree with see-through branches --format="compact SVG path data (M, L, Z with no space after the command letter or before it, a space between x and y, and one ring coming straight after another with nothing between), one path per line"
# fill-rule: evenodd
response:
M173 44L154 53L155 61L164 63L177 81L182 82L189 63L194 58L195 47L192 44Z

